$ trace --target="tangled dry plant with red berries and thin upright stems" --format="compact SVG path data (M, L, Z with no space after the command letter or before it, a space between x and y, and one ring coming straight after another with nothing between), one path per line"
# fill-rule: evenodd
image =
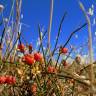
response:
M77 49L84 49L89 41L78 47L72 45L70 48L67 47L74 35L78 39L76 33L85 26L88 27L88 22L86 21L74 29L72 33L69 34L66 42L58 46L61 28L63 27L62 24L68 15L67 12L64 12L59 22L54 48L51 50L50 32L53 12L51 8L54 8L54 2L51 2L49 31L44 30L44 32L41 32L41 26L38 24L38 48L35 50L35 46L28 43L22 35L22 32L19 32L21 4L23 2L21 1L22 0L20 0L20 2L16 0L12 5L12 10L14 11L16 3L16 23L14 20L14 22L11 23L11 17L8 19L4 19L3 17L4 22L2 22L2 24L7 24L4 26L0 42L0 95L81 96L82 94L88 95L92 92L95 94L95 90L91 90L92 92L90 92L90 88L92 87L89 76L91 71L90 64L88 62L88 64L81 62L82 55L80 56L80 52L78 52L78 55L75 54L74 58L71 56L72 52L77 51ZM93 15L94 12L92 10L93 9L89 8L89 15ZM0 13L3 14L3 11L4 6L0 5ZM12 13L10 12L10 14ZM48 37L48 32L49 41L48 45L46 44L47 47L45 47L43 41L44 38ZM21 38L25 43L22 42ZM57 56L57 58L55 58L55 56ZM88 56L88 54L86 56ZM68 62L69 58L72 60L71 63ZM96 82L94 81L93 83L95 84Z

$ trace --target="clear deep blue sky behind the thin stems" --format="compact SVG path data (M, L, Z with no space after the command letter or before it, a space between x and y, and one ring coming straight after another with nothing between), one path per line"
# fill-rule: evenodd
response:
M49 23L49 13L50 13L50 0L22 0L22 11L23 19L21 22L28 24L30 27L22 26L22 35L30 43L32 42L34 48L36 46L38 38L38 24L43 26L44 30L48 28ZM88 8L92 4L96 5L95 0L81 0L88 11ZM0 3L5 6L4 16L8 17L11 9L11 0L0 0ZM67 16L64 20L61 35L59 39L59 45L64 44L69 36L69 34L74 31L79 25L86 22L85 17L80 10L77 0L54 0L53 9L53 21L51 30L51 47L54 47L54 40L58 32L58 27L60 20L67 11ZM91 17L91 21L93 20ZM92 35L94 36L95 26L92 26ZM78 39L75 36L78 35ZM70 44L74 46L79 46L86 42L88 39L87 27L79 31L75 36L72 37ZM46 46L47 38L44 40L44 46ZM68 47L68 46L67 46ZM86 50L86 48L85 48ZM86 51L84 51L86 53Z

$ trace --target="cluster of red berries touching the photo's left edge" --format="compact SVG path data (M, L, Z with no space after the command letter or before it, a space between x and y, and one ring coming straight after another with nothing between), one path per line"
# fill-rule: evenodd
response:
M1 76L0 84L15 84L16 78L13 76Z

